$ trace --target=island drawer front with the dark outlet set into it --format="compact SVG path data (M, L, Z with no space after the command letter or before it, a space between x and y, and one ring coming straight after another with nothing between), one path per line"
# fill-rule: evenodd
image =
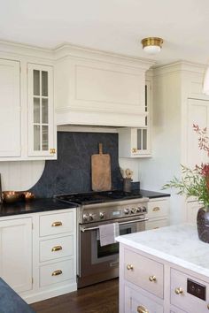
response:
M205 301L188 293L188 279L206 287L207 291L205 294ZM176 288L178 288L178 290L176 290ZM176 294L176 291L177 293L179 292L179 288L182 288L182 293ZM194 308L195 312L208 313L208 288L209 284L205 283L205 281L184 274L182 273L182 271L176 271L174 269L171 269L171 304L173 304L175 307L185 310L188 313L194 313Z

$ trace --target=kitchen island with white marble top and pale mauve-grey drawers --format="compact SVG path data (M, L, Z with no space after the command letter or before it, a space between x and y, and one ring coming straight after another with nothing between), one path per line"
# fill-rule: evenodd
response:
M120 241L120 313L209 311L209 245L195 225L172 225Z

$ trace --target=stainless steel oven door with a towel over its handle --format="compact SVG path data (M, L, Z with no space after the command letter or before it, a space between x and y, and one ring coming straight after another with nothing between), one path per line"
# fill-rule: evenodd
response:
M145 220L147 219L141 218L123 222L120 220L120 235L145 230ZM114 220L114 222L116 221L118 220ZM104 224L107 223L104 222ZM109 272L110 277L106 279L118 277L119 243L116 242L101 247L98 238L98 225L92 226L92 224L80 225L79 237L78 276L80 278L97 277L99 275L103 276L102 273L105 273L104 276L106 277ZM99 280L97 279L97 281Z

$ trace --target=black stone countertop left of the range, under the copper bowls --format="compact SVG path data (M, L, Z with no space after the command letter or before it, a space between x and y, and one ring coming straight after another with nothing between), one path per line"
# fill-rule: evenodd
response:
M63 210L75 208L76 204L59 202L53 198L34 199L30 201L19 201L15 203L0 204L0 217L18 214L29 214L50 210Z

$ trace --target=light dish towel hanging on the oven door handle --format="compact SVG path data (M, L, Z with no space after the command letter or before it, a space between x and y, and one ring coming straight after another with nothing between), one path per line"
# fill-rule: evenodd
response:
M115 237L118 237L119 233L119 223L111 223L99 226L99 240L100 246L110 245L115 243Z

